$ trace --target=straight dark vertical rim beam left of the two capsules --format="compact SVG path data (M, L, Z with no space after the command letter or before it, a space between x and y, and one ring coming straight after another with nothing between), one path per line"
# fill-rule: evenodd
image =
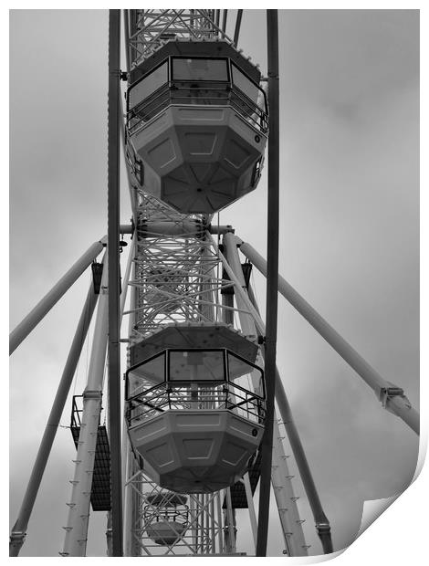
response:
M120 466L120 10L109 10L108 254L109 433L113 556L122 556Z

